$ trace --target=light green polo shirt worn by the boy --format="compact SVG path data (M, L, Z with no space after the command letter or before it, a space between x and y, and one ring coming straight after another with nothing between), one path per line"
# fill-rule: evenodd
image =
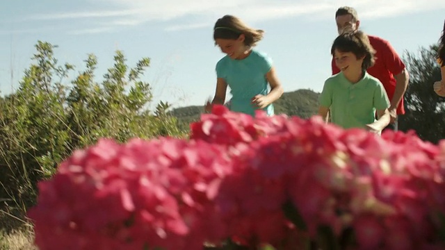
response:
M358 83L348 81L343 72L327 78L319 101L330 108L331 122L343 128L364 128L375 122L375 110L390 105L382 83L366 72Z

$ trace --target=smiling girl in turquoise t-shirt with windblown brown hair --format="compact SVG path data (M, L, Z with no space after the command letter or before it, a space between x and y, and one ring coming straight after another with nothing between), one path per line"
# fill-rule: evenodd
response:
M206 103L207 112L211 111L212 105L225 102L229 85L232 111L254 116L255 110L262 109L267 115L274 115L272 103L281 97L283 89L272 60L253 49L263 38L263 33L232 15L225 15L216 21L213 40L227 55L216 64L216 92L213 101Z

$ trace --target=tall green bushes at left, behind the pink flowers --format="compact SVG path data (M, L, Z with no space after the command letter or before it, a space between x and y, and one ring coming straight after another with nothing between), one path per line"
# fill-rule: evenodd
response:
M97 58L90 54L86 69L68 81L74 67L58 64L56 46L39 41L35 49L19 89L0 99L0 199L6 201L2 205L25 209L35 201L39 180L54 174L74 149L99 138L125 142L184 136L168 115L170 104L159 103L154 114L146 109L152 91L140 76L149 67L149 58L129 68L124 54L116 51L113 67L97 83Z

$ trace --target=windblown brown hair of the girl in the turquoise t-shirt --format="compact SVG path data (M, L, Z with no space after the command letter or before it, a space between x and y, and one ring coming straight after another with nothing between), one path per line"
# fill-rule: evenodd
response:
M264 31L250 28L241 19L232 15L221 17L213 27L213 40L236 40L241 34L245 36L244 44L254 47L263 38Z

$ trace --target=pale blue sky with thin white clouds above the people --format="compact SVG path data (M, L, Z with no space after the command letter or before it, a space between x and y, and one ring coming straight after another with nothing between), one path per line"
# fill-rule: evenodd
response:
M273 58L285 91L321 91L330 76L330 46L337 35L334 13L353 6L364 32L391 42L399 54L437 42L444 0L15 0L0 8L0 91L10 93L29 67L38 40L58 45L60 63L76 66L94 53L97 81L113 65L116 49L130 66L149 57L143 79L154 101L202 105L213 96L215 65L224 55L214 46L212 26L225 14L266 31L257 49Z

